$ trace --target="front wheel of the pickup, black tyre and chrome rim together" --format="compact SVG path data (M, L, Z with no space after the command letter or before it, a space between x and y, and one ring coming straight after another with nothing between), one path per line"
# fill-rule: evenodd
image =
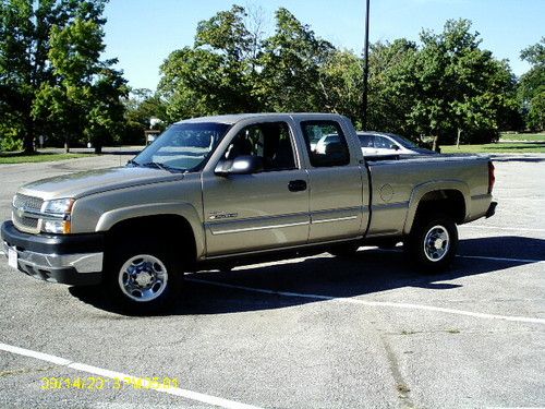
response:
M114 301L135 314L169 306L183 278L174 257L160 246L144 242L118 251L119 254L112 254L108 276Z

